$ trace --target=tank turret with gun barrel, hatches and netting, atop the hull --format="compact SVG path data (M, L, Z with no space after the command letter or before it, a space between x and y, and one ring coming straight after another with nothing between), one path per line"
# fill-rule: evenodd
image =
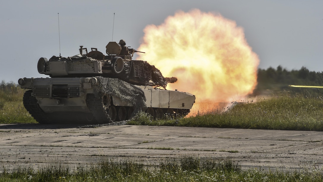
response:
M83 54L84 51L86 54ZM117 42L109 42L106 46L106 53L98 51L97 48L80 46L79 54L71 57L52 56L40 58L37 63L37 70L40 74L49 75L52 78L59 77L84 77L102 76L118 78L131 84L162 86L167 83L174 83L176 78L164 78L161 72L146 61L132 60L134 49L128 49L129 56L120 55L121 46ZM144 53L144 52L142 52Z

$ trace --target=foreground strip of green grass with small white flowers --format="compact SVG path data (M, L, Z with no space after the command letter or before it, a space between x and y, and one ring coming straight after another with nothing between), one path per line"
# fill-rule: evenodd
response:
M5 167L4 167L5 168ZM156 167L133 163L103 161L91 167L50 165L32 170L18 168L14 172L3 172L0 181L322 181L323 168L316 163L302 165L297 171L283 172L279 169L241 170L231 160L183 157L165 159Z

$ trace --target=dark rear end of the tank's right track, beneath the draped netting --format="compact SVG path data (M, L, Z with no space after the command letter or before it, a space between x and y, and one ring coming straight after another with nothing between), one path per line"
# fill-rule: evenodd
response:
M86 100L88 108L90 109L94 118L99 124L112 122L111 118L109 117L109 114L104 108L102 97L95 97L94 94L88 94Z

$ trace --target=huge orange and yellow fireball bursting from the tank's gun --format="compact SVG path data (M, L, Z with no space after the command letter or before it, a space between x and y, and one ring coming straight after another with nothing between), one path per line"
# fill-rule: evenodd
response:
M194 9L167 17L144 29L138 59L165 77L177 77L167 89L190 92L196 102L227 102L253 92L258 56L235 22Z

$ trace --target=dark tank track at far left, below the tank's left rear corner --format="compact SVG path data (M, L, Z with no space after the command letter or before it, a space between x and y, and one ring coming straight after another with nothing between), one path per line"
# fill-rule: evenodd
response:
M40 108L37 103L36 97L31 96L32 90L27 90L24 93L23 104L29 114L36 119L37 122L42 124L50 123L46 113Z

